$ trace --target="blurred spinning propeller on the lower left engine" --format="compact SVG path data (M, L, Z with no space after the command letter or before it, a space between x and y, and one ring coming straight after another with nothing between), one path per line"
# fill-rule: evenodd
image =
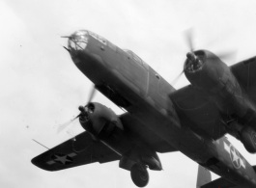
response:
M94 98L95 94L96 94L96 87L95 87L95 85L94 85L93 88L92 88L92 90L91 90L91 93L90 93L90 95L89 95L88 102L87 102L87 104L86 104L85 106L87 106L87 105L92 101L92 99ZM60 124L60 125L58 126L58 128L57 128L57 134L60 133L60 132L62 132L64 129L66 129L66 128L71 124L72 121L75 121L77 118L81 117L82 115L88 114L88 112L87 112L87 111L88 111L88 108L85 108L85 107L82 106L82 105L80 105L80 106L78 107L78 110L80 111L80 114L78 114L75 118L71 119L70 121L67 121L67 122L65 122L65 123L63 123L63 124Z

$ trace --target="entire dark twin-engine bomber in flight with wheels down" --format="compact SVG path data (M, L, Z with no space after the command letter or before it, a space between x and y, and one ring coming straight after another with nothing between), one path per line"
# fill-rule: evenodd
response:
M189 39L184 72L191 85L175 90L135 53L91 31L67 38L72 62L94 83L76 117L85 131L33 158L34 165L59 171L119 160L144 187L148 169L162 170L156 152L181 151L199 164L197 187L256 187L256 166L225 138L256 152L256 57L228 67ZM91 102L95 90L126 112ZM220 177L211 181L209 171Z

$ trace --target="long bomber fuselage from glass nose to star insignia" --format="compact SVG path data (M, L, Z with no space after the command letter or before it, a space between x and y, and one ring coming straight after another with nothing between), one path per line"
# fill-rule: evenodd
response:
M255 172L242 154L224 137L213 141L183 124L169 97L175 89L133 52L86 30L70 37L69 50L102 94L171 146L235 184L256 187Z

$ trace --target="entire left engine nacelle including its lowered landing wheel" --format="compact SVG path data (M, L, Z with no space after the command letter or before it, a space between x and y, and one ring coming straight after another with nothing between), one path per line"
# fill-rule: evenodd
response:
M100 103L89 103L85 107L80 106L79 110L82 127L97 142L121 156L119 167L131 172L136 185L145 186L148 183L147 167L155 171L162 170L156 151L137 140L135 135L126 132L121 120L112 110Z

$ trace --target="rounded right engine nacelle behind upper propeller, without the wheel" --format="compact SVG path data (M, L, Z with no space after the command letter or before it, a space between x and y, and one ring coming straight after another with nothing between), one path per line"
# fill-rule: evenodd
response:
M187 54L185 76L213 101L224 115L243 117L249 109L246 94L237 79L217 56L207 50Z

